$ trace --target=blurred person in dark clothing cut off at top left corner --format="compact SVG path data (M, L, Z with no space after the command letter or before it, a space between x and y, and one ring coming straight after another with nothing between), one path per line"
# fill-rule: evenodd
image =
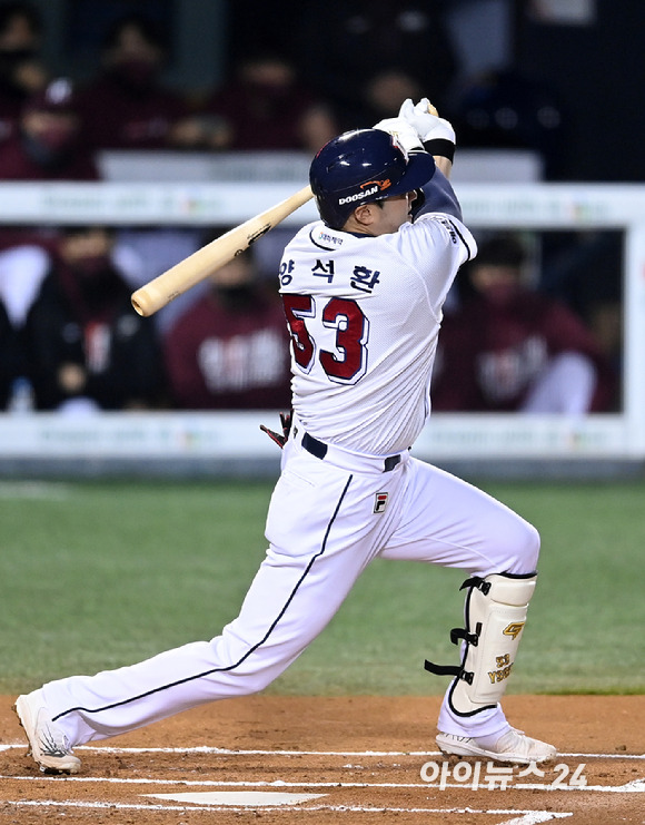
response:
M48 82L41 42L42 22L31 3L0 6L0 144L17 134L26 100Z

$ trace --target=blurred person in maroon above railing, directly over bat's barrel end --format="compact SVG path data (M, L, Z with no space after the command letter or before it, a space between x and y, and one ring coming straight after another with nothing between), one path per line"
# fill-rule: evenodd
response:
M163 149L188 114L181 95L161 84L167 45L140 14L120 18L108 31L102 71L81 95L90 139L97 149Z

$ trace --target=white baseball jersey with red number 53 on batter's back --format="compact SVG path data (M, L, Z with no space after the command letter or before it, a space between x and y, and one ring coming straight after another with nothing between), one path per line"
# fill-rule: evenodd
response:
M468 229L436 213L379 237L322 222L296 235L280 292L307 432L370 455L411 446L430 410L441 306L475 252Z

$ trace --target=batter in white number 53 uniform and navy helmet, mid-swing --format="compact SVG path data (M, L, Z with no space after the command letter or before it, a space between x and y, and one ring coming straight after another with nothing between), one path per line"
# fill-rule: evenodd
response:
M437 744L510 764L553 758L499 700L536 582L537 531L504 504L411 456L430 411L441 305L476 245L448 183L455 135L407 100L311 163L320 220L280 264L292 421L266 523L268 550L238 618L210 641L73 676L20 696L41 769L77 773L73 746L216 699L261 690L325 628L375 558L467 572L459 664ZM455 376L458 381L458 375ZM430 597L429 597L430 598Z

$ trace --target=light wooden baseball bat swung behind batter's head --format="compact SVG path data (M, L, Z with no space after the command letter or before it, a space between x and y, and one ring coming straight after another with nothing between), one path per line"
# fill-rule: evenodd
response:
M132 293L132 306L139 315L153 315L178 295L248 249L255 240L266 235L312 197L311 187L305 186L279 204L229 229Z

